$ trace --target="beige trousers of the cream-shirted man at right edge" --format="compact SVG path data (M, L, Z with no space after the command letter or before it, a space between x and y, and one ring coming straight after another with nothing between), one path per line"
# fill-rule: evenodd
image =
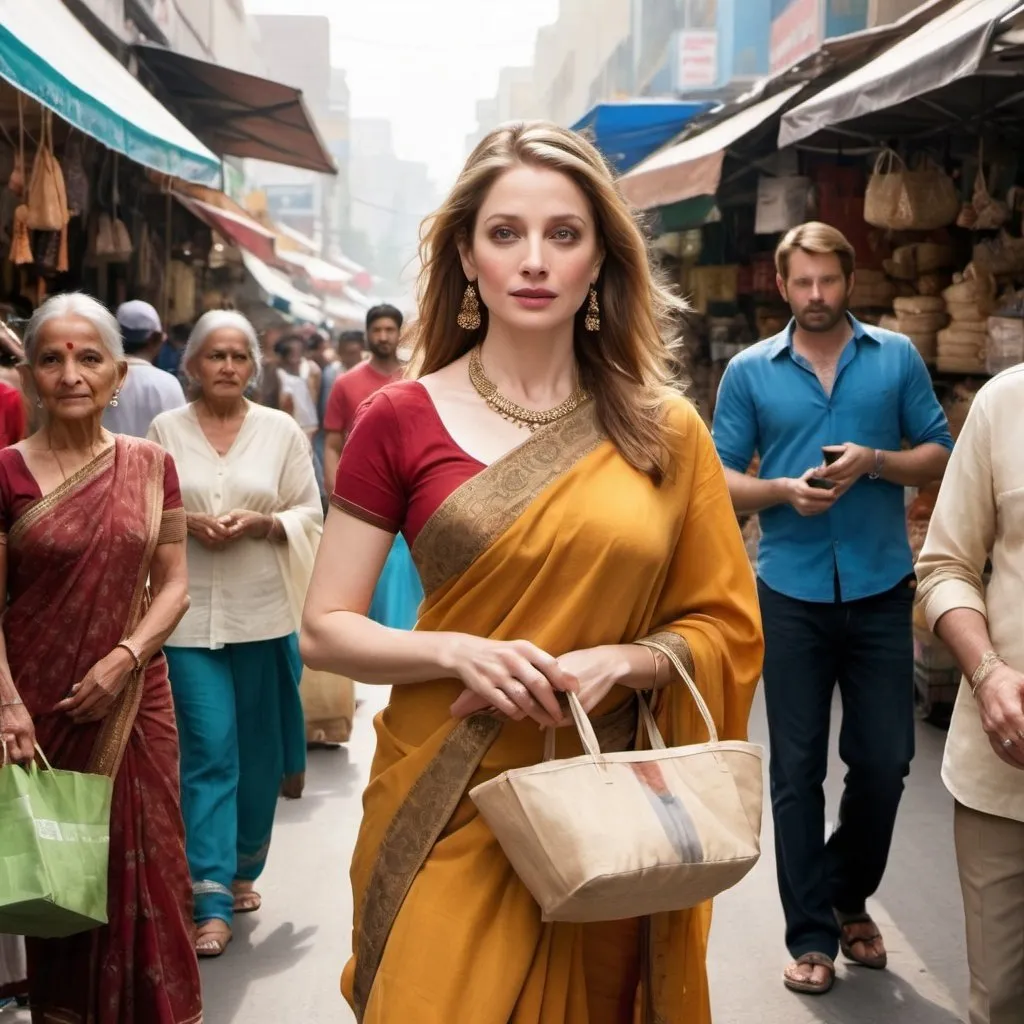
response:
M953 830L967 920L971 1024L1022 1024L1024 822L957 803Z

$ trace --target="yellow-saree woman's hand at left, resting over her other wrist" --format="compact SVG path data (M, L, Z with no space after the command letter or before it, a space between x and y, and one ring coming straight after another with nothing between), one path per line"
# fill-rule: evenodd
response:
M551 728L563 724L558 692L579 687L558 659L525 640L456 634L445 660L466 687L452 705L454 718L490 709L515 722L531 718Z

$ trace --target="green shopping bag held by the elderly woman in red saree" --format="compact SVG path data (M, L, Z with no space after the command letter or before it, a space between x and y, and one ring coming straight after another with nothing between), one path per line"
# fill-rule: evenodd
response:
M114 784L36 750L46 771L0 768L0 933L57 939L106 924Z

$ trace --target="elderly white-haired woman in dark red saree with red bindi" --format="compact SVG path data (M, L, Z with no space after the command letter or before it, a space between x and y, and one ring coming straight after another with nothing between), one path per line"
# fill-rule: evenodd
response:
M83 295L26 332L42 426L0 452L3 735L15 758L114 780L110 924L28 942L34 1024L199 1024L199 965L161 653L188 603L174 463L102 428L125 362L117 322ZM0 823L2 827L2 823Z

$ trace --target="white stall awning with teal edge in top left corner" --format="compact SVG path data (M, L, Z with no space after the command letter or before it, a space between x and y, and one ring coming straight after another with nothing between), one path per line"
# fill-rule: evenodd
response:
M220 178L220 160L60 0L0 0L0 77L144 167Z

